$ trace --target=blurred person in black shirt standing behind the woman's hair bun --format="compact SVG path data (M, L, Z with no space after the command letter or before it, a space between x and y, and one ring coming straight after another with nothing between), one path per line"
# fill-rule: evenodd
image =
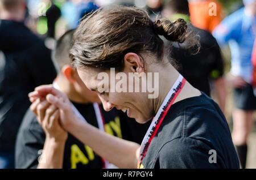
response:
M187 0L170 0L163 9L163 16L172 22L183 18L190 22L189 6ZM203 29L189 24L189 28L200 36L200 50L198 53L180 48L177 43L172 43L170 57L177 62L177 69L193 87L210 96L210 80L214 84L217 93L218 104L222 112L225 112L226 88L223 78L224 64L220 47L215 38ZM174 62L175 63L175 62Z

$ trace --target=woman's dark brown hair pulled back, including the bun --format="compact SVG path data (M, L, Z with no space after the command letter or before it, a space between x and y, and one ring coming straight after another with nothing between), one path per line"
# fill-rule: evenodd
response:
M164 43L167 40L193 43L193 34L183 19L170 22L156 19L152 22L147 12L136 7L115 6L101 8L84 17L73 37L70 51L72 64L77 67L94 67L107 70L115 67L123 69L126 53L150 53L158 59L164 55Z

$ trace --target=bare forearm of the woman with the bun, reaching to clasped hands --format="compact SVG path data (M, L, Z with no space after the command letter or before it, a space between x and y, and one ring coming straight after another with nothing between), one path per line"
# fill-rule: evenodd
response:
M139 144L101 132L85 122L75 122L68 129L82 143L119 168L137 168Z

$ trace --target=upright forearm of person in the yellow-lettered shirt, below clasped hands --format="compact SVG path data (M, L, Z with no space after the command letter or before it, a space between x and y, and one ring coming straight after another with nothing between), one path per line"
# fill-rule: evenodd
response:
M38 164L38 169L63 168L65 140L46 138L43 153Z

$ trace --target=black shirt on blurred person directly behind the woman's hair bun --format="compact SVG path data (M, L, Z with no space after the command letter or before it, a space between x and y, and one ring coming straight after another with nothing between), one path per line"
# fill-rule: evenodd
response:
M224 64L220 47L215 38L207 31L189 25L196 35L200 36L200 51L184 50L172 45L171 58L178 65L177 70L193 87L210 96L209 79L216 80L224 74Z

